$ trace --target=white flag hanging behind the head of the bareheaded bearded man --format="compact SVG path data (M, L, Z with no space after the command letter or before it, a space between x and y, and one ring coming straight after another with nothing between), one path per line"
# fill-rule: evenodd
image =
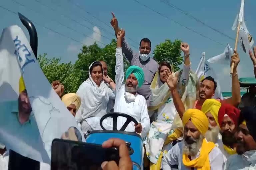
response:
M205 52L202 53L202 57L200 59L199 65L196 69L196 75L200 81L202 81L205 77L211 76L217 82L217 88L215 90L214 99L223 99L220 84L218 82L217 76L214 73L214 70L210 67L210 63L205 61Z

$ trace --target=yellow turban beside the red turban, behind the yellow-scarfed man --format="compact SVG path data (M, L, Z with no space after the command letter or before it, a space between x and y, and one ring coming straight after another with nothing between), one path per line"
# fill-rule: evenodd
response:
M207 99L204 101L201 111L206 114L207 112L211 112L212 116L214 117L215 122L219 126L218 122L218 112L220 109L221 103L215 99ZM219 126L220 127L220 126Z

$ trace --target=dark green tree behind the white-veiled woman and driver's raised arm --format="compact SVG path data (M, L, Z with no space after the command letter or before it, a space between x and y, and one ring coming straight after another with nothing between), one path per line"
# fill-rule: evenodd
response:
M78 59L75 62L76 70L80 70L82 77L80 83L89 77L89 66L94 61L103 60L107 63L108 76L115 81L115 65L116 65L116 40L112 40L104 48L101 48L96 42L92 45L84 45L82 51L78 54ZM125 69L129 66L129 62L124 57Z

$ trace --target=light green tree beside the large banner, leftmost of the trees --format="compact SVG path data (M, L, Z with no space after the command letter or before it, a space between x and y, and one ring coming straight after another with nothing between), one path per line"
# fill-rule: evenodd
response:
M47 54L39 55L38 62L49 82L60 80L64 85L64 93L76 93L80 86L81 71L76 70L74 64L60 63L60 58L49 59Z

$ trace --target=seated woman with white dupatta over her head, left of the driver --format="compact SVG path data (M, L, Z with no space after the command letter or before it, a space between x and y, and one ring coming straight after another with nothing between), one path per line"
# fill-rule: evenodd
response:
M76 121L81 124L84 133L88 130L101 130L99 120L107 113L109 99L115 99L113 81L103 75L100 62L95 61L89 67L89 78L84 81L77 90L82 102L76 113ZM106 85L109 83L109 88ZM106 127L108 125L104 125ZM106 127L110 128L110 127Z

